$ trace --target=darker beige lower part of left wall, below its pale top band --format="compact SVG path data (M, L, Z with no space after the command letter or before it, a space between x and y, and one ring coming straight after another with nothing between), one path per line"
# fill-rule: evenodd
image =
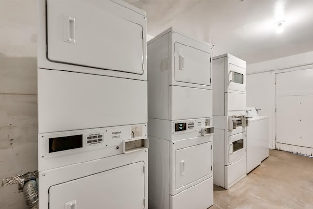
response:
M38 169L37 58L0 54L0 179ZM27 209L17 185L0 187L1 209Z

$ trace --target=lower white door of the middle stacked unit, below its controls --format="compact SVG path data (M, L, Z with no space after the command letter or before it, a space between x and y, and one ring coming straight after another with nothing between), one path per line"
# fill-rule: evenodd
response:
M211 166L211 142L176 150L175 189L209 175Z

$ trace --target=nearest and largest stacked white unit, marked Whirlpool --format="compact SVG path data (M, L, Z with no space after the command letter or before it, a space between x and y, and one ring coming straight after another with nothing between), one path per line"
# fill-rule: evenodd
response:
M146 13L40 0L40 209L147 209Z

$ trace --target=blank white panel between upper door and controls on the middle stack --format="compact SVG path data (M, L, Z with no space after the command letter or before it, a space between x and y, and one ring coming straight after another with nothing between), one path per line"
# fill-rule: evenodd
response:
M212 117L212 90L170 86L170 120Z

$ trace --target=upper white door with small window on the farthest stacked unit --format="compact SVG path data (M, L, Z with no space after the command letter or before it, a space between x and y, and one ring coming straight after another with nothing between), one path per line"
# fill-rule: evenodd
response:
M246 92L246 69L229 63L228 83L229 90Z

